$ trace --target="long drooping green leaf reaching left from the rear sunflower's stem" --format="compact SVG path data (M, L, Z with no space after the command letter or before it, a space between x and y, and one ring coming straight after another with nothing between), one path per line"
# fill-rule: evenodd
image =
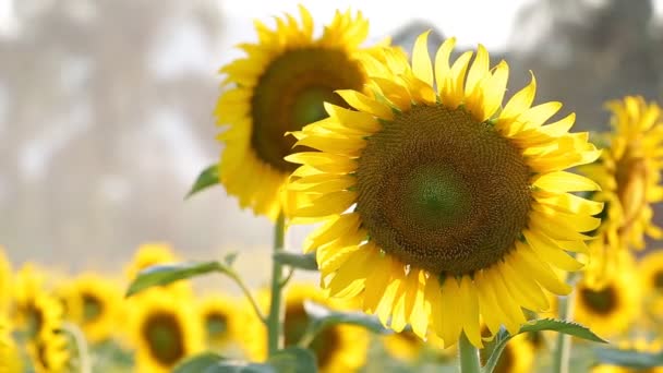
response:
M188 262L177 264L155 265L141 270L129 286L125 297L147 288L167 285L177 280L186 279L212 272L226 273L228 267L219 262Z

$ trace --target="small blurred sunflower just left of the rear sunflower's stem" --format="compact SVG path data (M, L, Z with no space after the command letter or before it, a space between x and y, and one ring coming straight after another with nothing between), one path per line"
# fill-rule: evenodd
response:
M215 294L200 302L198 315L209 346L225 348L239 340L242 333L240 312L237 301L227 296Z

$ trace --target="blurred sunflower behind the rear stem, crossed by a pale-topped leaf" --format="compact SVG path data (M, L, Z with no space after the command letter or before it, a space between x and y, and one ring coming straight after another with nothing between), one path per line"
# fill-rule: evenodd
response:
M268 304L268 296L261 296L262 303ZM309 325L309 316L304 310L304 301L312 301L332 309L347 310L348 303L330 301L318 289L311 285L297 284L286 291L284 336L286 347L297 346ZM250 318L251 329L248 334L248 352L252 360L267 358L267 330L256 318ZM369 348L367 332L354 325L337 324L327 327L318 334L309 348L317 359L322 373L354 372L364 365Z

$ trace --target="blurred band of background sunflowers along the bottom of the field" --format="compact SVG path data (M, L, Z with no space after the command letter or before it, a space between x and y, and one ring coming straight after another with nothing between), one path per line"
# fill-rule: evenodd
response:
M82 364L92 372L168 372L204 350L238 359L266 358L266 329L249 303L232 296L197 296L189 281L180 280L124 299L123 282L146 267L178 260L168 245L142 245L124 275L114 277L95 273L69 277L29 263L12 273L10 263L3 256L0 260L3 294L9 294L1 303L4 346L0 357L11 362L3 372L75 372L83 370ZM637 272L634 264L631 258L627 272L610 276L600 290L578 284L575 318L601 336L615 338L622 348L661 350L663 251L642 257ZM313 284L293 284L285 302L286 346L296 345L305 332L306 301L358 310L358 304L327 299ZM258 294L258 302L266 309L266 291ZM535 359L537 353L550 353L552 344L552 336L544 333L516 338L507 345L496 371L543 369L550 362ZM377 336L343 324L325 329L310 346L322 372L357 371L366 364L371 372L384 365L403 371L445 366L457 353L454 348L443 349L436 338L424 342L412 332ZM593 371L618 370L599 365Z

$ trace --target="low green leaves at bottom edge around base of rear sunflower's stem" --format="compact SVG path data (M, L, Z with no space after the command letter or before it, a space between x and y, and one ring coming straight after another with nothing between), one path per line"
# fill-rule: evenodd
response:
M215 360L216 358L216 360ZM198 360L200 359L200 360ZM289 347L276 351L266 363L224 360L214 353L203 353L176 368L174 373L315 373L315 356L306 349Z

